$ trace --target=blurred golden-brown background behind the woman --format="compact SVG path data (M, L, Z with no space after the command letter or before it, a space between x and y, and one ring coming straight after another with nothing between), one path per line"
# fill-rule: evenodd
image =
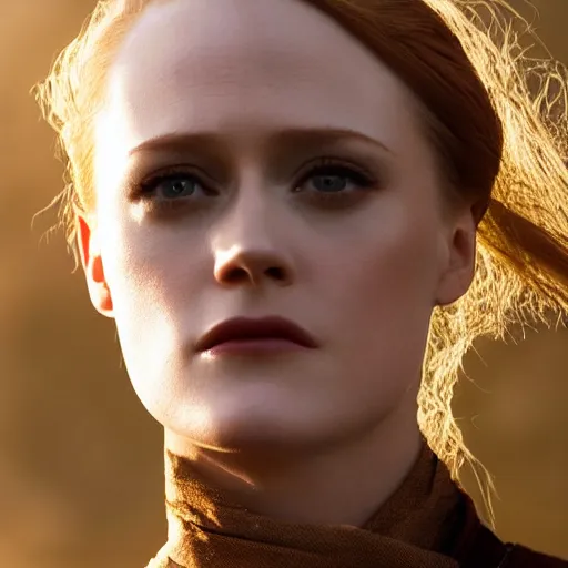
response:
M568 0L527 11L568 63ZM29 94L93 0L0 10L0 565L141 568L165 539L162 433L92 310L63 236L31 219L61 190L54 139ZM495 475L497 532L568 558L568 333L480 343L455 409ZM474 495L475 483L468 480Z

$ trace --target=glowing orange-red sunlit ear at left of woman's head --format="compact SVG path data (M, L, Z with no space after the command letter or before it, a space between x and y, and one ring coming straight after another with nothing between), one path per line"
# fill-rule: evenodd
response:
M89 296L94 308L105 317L113 317L111 292L104 277L101 250L92 221L77 211L77 241L81 264L87 278Z

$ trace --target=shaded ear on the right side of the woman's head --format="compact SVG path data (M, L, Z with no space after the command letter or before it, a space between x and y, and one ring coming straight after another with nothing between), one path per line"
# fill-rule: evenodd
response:
M459 300L471 285L476 263L477 223L474 209L464 207L453 216L452 226L443 237L443 271L436 292L436 305Z

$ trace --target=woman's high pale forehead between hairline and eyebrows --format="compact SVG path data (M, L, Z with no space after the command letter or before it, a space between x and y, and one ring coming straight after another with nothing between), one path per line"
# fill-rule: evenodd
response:
M172 132L244 142L285 126L356 130L396 148L410 106L394 73L307 2L173 0L150 4L129 32L103 115L123 149Z

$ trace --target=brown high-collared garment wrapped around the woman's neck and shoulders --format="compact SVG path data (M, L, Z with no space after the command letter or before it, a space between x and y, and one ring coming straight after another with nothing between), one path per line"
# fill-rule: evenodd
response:
M148 568L568 568L500 542L426 445L362 528L254 515L226 503L187 460L165 459L169 541Z

